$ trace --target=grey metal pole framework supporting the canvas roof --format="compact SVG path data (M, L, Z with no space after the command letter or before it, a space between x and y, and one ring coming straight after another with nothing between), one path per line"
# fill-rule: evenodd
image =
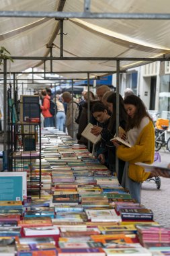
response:
M60 22L60 28L63 30L63 19L69 18L83 18L83 19L122 19L122 20L170 20L169 13L93 13L90 11L91 0L84 0L84 11L83 12L63 12L62 8L65 5L65 0L60 1L60 9L54 12L46 12L46 11L0 11L0 17L15 17L15 18L56 18L62 20ZM63 32L63 31L62 31ZM63 35L63 33L62 33ZM40 60L40 61L50 61L50 71L51 73L86 73L87 81L88 81L88 98L89 98L89 75L90 73L115 73L111 71L63 71L57 72L52 70L52 61L116 61L116 75L117 75L117 83L116 83L116 133L118 133L118 124L119 124L119 87L120 87L120 72L124 70L120 70L120 61L145 61L145 62L153 62L153 61L170 61L169 55L163 55L163 57L159 58L120 58L120 57L63 57L63 38L62 35L60 37L60 57L52 57L52 44L48 45L50 48L50 57L15 57L13 56L13 60ZM146 63L142 63L144 65ZM3 80L4 80L4 150L6 150L7 146L7 60L4 60L3 65ZM11 72L12 73L12 72ZM15 75L17 73L26 73L26 72L13 72L13 86L15 87ZM34 73L34 72L32 72ZM37 72L35 72L37 73ZM46 73L46 72L45 72ZM50 73L50 72L47 72ZM72 88L73 88L72 79ZM14 90L14 89L13 89ZM88 114L89 120L89 114ZM116 162L116 170L118 170L118 161Z

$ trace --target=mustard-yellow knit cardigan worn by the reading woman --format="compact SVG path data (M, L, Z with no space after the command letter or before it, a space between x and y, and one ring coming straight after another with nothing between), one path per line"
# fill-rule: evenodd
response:
M155 131L152 121L149 121L132 148L119 146L117 150L118 158L129 162L128 177L138 183L146 181L151 172L144 172L144 168L134 164L135 162L145 162L152 164L155 154Z

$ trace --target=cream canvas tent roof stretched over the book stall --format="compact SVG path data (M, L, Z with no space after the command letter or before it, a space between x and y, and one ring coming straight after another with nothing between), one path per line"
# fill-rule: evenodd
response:
M91 0L93 13L167 13L169 0ZM66 74L64 72L89 71L93 75L105 75L116 71L116 61L110 57L163 57L170 52L170 20L122 20L69 18L64 20L63 57L103 57L103 59L67 60L60 57L60 22L55 18L7 17L3 11L63 11L83 12L84 0L1 0L0 5L0 46L13 57L35 57L35 59L15 59L10 71L19 72L28 67L44 67L42 59L50 57L52 48L53 72L69 78L86 78L86 73ZM105 59L108 58L108 59ZM124 60L120 69L141 65L141 61ZM51 71L50 61L46 61L46 71ZM9 69L9 67L8 67ZM95 71L99 71L97 73Z

